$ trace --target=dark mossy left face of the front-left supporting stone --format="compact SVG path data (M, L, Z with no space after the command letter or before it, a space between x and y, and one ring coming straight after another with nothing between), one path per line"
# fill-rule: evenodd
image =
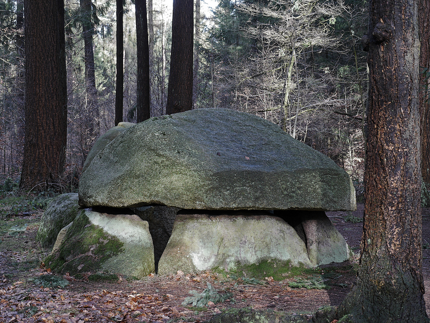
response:
M57 273L95 272L104 261L124 251L123 242L89 221L85 211L68 229L61 246L45 259Z

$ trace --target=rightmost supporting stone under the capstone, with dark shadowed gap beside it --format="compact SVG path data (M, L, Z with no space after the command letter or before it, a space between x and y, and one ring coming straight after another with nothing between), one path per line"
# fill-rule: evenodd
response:
M339 263L352 256L344 237L324 211L277 211L276 216L290 224L306 244L313 267Z

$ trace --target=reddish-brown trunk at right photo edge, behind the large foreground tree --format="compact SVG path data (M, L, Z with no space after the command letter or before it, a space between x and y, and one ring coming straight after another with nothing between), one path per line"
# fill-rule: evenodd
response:
M430 72L430 0L420 0L418 6L418 22L420 26L420 91L418 100L421 113L421 174L424 183L430 184L430 78L425 79L427 68ZM427 90L427 93L426 93ZM427 196L429 199L430 196Z

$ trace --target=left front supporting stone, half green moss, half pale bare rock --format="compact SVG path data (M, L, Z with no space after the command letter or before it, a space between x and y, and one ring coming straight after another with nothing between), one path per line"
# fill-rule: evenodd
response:
M142 277L155 271L147 221L92 209L80 211L44 262L56 273L71 275L101 270Z

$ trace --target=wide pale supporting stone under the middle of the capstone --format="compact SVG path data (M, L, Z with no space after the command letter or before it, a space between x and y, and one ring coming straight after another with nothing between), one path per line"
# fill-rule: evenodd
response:
M305 243L289 224L264 211L260 212L262 215L247 214L255 212L178 214L158 263L158 273L215 267L230 271L238 265L273 260L312 267Z

